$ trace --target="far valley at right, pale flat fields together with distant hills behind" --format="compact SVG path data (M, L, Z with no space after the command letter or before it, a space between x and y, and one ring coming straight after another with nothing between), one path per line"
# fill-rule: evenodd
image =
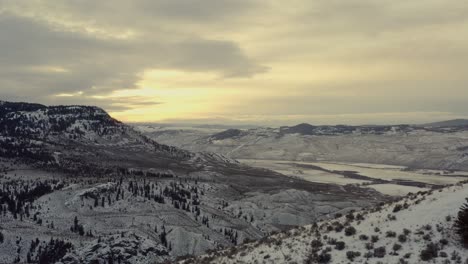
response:
M213 151L293 179L358 186L383 195L402 196L456 184L468 177L468 154L464 148L468 144L467 130L463 126L437 125L301 124L224 131L156 125L136 128L166 144Z

